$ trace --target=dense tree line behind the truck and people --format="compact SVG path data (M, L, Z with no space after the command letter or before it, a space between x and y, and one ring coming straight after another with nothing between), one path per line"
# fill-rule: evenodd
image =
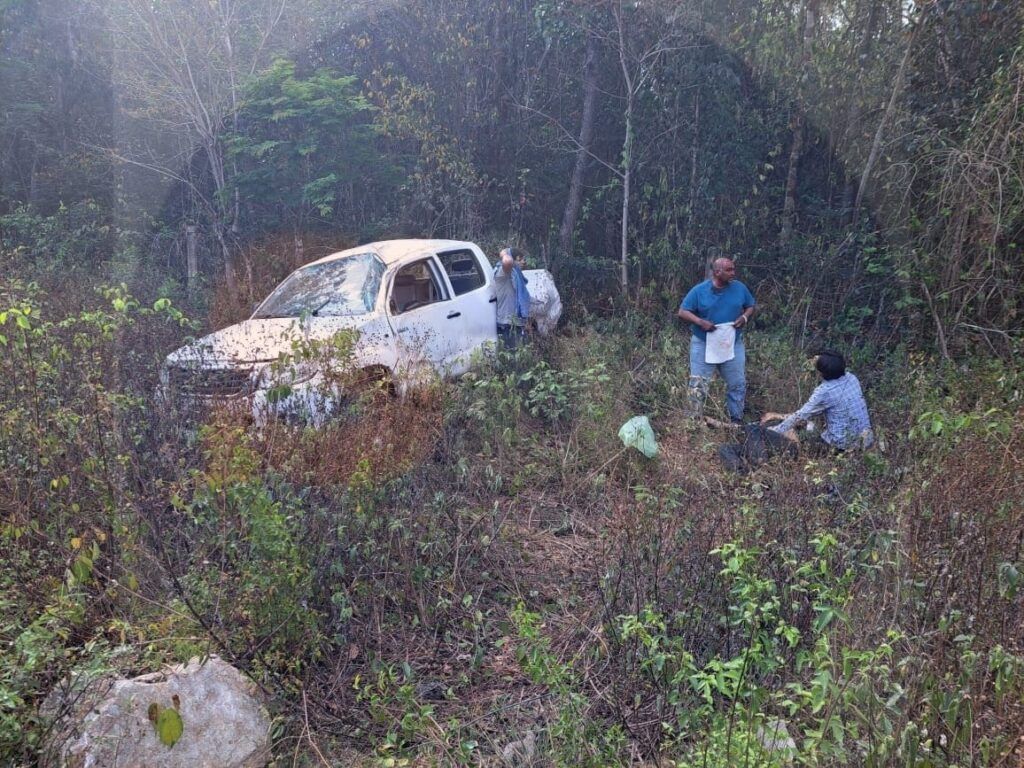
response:
M267 238L514 241L591 303L674 295L730 253L803 330L949 354L1020 328L1016 3L2 13L0 210L27 260L183 280L193 252L230 285Z

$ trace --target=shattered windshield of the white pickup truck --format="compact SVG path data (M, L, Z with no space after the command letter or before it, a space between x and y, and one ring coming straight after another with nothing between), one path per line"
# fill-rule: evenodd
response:
M383 274L384 264L373 253L310 264L292 272L253 317L365 314L374 308Z

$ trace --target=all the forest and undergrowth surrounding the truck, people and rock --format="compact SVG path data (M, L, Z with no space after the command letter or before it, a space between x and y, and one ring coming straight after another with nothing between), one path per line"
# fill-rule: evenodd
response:
M66 5L0 2L0 762L208 653L283 764L1024 761L1019 4ZM401 236L524 246L562 328L317 430L158 396ZM828 343L876 449L721 469L671 318L727 254L751 416Z

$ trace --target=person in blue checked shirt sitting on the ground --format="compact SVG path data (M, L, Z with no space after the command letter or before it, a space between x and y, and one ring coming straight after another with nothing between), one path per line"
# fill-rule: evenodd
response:
M867 402L857 377L846 370L846 360L839 352L825 350L814 361L821 383L811 392L800 410L786 416L781 424L769 429L782 434L802 422L823 415L825 428L821 441L835 451L870 447L874 442ZM766 414L765 419L775 416Z

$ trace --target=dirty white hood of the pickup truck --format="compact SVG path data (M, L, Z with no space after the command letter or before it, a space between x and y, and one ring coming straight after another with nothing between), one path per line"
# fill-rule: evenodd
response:
M269 362L293 350L298 340L323 341L346 329L362 330L370 316L266 317L216 331L167 355L168 366L230 368Z

